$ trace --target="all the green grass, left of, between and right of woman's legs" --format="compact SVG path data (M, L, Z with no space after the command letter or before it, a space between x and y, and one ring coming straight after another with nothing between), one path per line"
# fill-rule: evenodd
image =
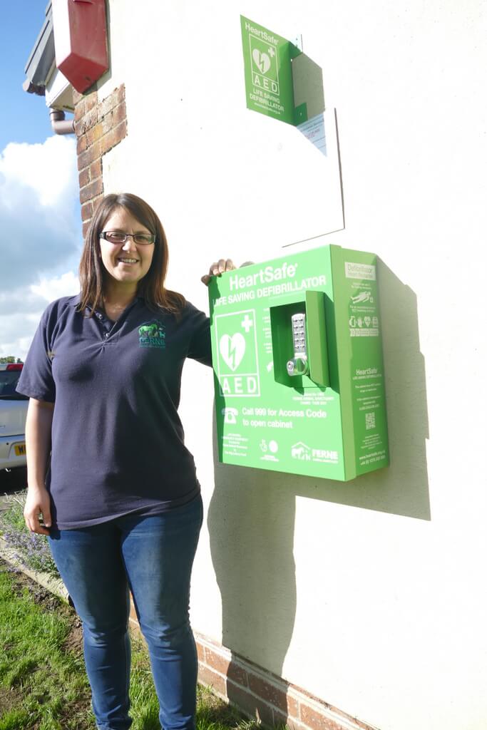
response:
M0 730L96 730L74 611L0 561ZM160 730L145 642L132 638L132 730ZM198 689L197 730L253 730Z

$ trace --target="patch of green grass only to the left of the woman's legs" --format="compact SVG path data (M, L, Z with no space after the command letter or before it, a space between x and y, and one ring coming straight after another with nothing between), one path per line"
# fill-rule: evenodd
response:
M83 658L68 648L71 612L57 599L40 603L21 578L1 570L0 730L92 730Z

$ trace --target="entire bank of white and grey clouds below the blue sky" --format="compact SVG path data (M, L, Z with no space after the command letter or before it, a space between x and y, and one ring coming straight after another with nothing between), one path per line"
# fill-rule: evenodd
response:
M48 301L79 291L74 137L0 153L0 355L24 358Z

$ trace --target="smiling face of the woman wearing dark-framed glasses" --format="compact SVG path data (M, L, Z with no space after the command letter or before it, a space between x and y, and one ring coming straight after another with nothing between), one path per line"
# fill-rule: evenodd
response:
M129 234L151 234L125 208L116 208L107 218L103 231L118 231ZM128 238L123 244L114 244L100 239L101 261L115 282L123 285L137 285L150 269L154 255L154 244L140 245Z

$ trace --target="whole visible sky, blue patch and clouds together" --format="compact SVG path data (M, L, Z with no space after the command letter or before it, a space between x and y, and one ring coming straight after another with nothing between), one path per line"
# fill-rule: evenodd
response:
M74 135L22 88L47 1L1 6L0 356L24 358L47 303L78 291L82 229Z

